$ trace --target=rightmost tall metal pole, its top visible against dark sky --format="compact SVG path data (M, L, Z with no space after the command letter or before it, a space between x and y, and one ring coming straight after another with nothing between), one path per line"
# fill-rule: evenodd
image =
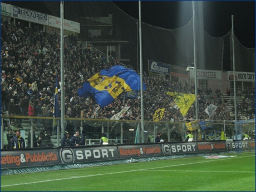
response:
M234 77L234 105L235 105L235 140L238 140L237 138L237 91L235 89L235 46L234 46L234 22L233 18L234 16L231 16L232 18L232 50L233 50L233 77Z

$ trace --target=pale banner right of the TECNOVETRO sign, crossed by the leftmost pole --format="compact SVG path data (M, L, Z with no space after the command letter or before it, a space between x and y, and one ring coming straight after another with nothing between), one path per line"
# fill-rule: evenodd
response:
M61 28L61 18L55 17L55 16L49 16L49 26ZM80 23L69 21L67 19L64 19L64 29L76 33L80 33Z

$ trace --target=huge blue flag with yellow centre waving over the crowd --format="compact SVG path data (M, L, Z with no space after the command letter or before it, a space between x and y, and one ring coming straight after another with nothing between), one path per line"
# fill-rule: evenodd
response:
M144 83L143 89L146 89ZM121 93L132 90L140 90L140 76L132 69L115 65L93 75L77 92L79 97L93 97L100 107L105 107Z

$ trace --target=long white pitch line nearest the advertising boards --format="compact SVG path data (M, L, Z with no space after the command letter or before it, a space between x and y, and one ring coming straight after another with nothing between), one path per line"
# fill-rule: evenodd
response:
M255 155L249 155L249 156L255 156ZM246 158L246 157L249 157L249 156L239 156L239 157L234 157L234 158ZM28 185L28 184L36 184L36 183L45 183L45 182L49 182L49 181L58 181L58 180L66 180L66 179L77 179L77 178L87 178L87 177L91 177L91 176L112 175L112 174L119 174L119 173L129 173L129 172L134 172L134 171L145 171L145 170L150 170L150 169L168 168L168 167L171 167L171 166L183 166L183 165L191 165L191 164L199 164L199 163L208 163L208 162L211 162L211 161L227 160L227 159L229 159L229 158L211 159L211 160L194 162L194 163L186 163L186 164L179 164L179 165L168 165L168 166L159 166L157 168L136 169L136 170L130 170L130 171L114 172L114 173L105 173L105 174L96 174L96 175L83 175L83 176L72 176L72 177L69 177L69 178L51 179L51 180L35 181L35 182L29 182L29 183L12 184L12 185L2 185L1 188L6 187L6 186Z

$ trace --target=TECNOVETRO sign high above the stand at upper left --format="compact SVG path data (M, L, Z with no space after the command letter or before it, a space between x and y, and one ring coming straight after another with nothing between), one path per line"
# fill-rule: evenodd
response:
M48 24L48 15L45 13L40 13L36 11L32 11L29 9L24 9L21 7L13 6L13 14L14 18L22 19L25 21L39 23L39 24Z

